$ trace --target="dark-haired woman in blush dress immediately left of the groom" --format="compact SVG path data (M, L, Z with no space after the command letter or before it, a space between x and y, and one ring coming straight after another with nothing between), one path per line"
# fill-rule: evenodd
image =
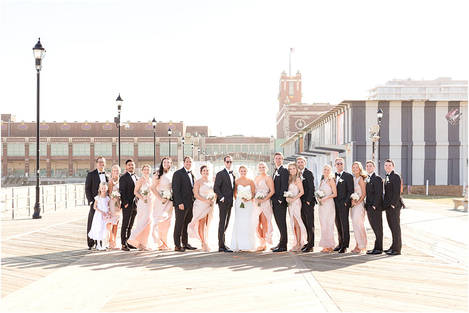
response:
M210 251L207 246L208 230L213 218L213 206L215 199L208 200L205 197L213 194L213 181L208 179L210 171L207 165L200 168L202 177L194 182L194 196L196 201L192 207L192 221L187 226L189 237L197 238L202 242L202 250Z

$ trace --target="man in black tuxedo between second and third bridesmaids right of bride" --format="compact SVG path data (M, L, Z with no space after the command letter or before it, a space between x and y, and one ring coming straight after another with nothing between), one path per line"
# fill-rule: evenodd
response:
M311 252L314 247L314 205L316 197L314 196L314 175L306 168L306 158L297 157L296 165L301 171L301 180L303 181L304 194L301 199L301 219L308 232L308 242L302 247L301 251Z

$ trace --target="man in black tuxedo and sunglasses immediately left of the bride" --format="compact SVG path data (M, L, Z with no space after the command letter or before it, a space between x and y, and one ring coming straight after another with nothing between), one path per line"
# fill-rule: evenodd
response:
M219 171L213 184L213 192L217 194L217 204L220 211L220 221L218 224L218 252L233 252L225 243L225 232L230 221L231 208L233 207L234 174L231 170L233 158L226 156L223 158L225 168Z

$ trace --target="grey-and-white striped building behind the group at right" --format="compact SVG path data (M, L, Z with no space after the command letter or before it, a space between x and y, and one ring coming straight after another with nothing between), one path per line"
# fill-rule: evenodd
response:
M371 159L369 127L378 124L378 108L384 112L381 173L391 158L404 185L468 183L468 101L344 100L281 145L286 162L307 157L316 183L336 157L345 159L349 172L353 161L364 164Z

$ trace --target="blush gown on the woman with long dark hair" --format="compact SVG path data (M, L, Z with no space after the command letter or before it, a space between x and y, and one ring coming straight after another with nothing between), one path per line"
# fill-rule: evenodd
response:
M154 178L156 179L156 178ZM173 194L172 183L173 183L173 172L169 171L163 173L158 184L158 192L161 194L162 191L170 191ZM173 201L166 199L163 204L158 198L155 198L155 205L153 207L153 230L151 232L153 241L158 247L166 244L168 245L168 230L171 226L171 218L173 217L174 207Z

